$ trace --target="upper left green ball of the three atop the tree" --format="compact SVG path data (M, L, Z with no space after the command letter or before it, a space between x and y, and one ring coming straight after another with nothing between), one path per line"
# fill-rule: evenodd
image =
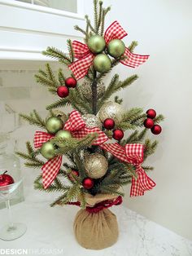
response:
M102 36L95 35L89 38L87 45L90 51L94 53L99 53L105 49L106 43Z

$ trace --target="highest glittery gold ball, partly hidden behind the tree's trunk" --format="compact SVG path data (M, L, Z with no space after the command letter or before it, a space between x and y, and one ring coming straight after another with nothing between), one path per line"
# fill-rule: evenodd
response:
M97 86L98 86L97 99L100 99L105 92L104 82L99 81ZM88 80L85 80L85 82L83 82L79 88L81 90L81 94L84 95L85 99L92 99L91 84Z

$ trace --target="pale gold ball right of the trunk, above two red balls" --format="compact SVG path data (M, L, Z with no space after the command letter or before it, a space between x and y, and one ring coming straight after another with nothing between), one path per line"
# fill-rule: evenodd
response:
M107 118L111 118L118 125L123 120L124 108L116 102L109 101L103 104L102 108L98 111L98 118L100 121L105 121Z

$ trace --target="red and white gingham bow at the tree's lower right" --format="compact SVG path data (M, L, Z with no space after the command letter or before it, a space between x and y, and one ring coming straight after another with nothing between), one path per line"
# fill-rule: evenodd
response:
M145 170L142 169L144 146L139 143L126 144L124 147L118 143L107 143L100 145L101 148L111 152L112 155L121 161L132 164L136 167L137 179L132 177L130 196L143 196L146 190L155 187L155 182L150 179Z

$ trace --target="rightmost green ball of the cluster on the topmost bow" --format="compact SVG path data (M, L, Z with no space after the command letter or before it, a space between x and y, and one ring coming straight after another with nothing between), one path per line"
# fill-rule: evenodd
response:
M125 51L124 42L120 39L111 40L111 42L109 42L107 46L107 50L109 55L114 58L119 58L121 55L124 54Z

